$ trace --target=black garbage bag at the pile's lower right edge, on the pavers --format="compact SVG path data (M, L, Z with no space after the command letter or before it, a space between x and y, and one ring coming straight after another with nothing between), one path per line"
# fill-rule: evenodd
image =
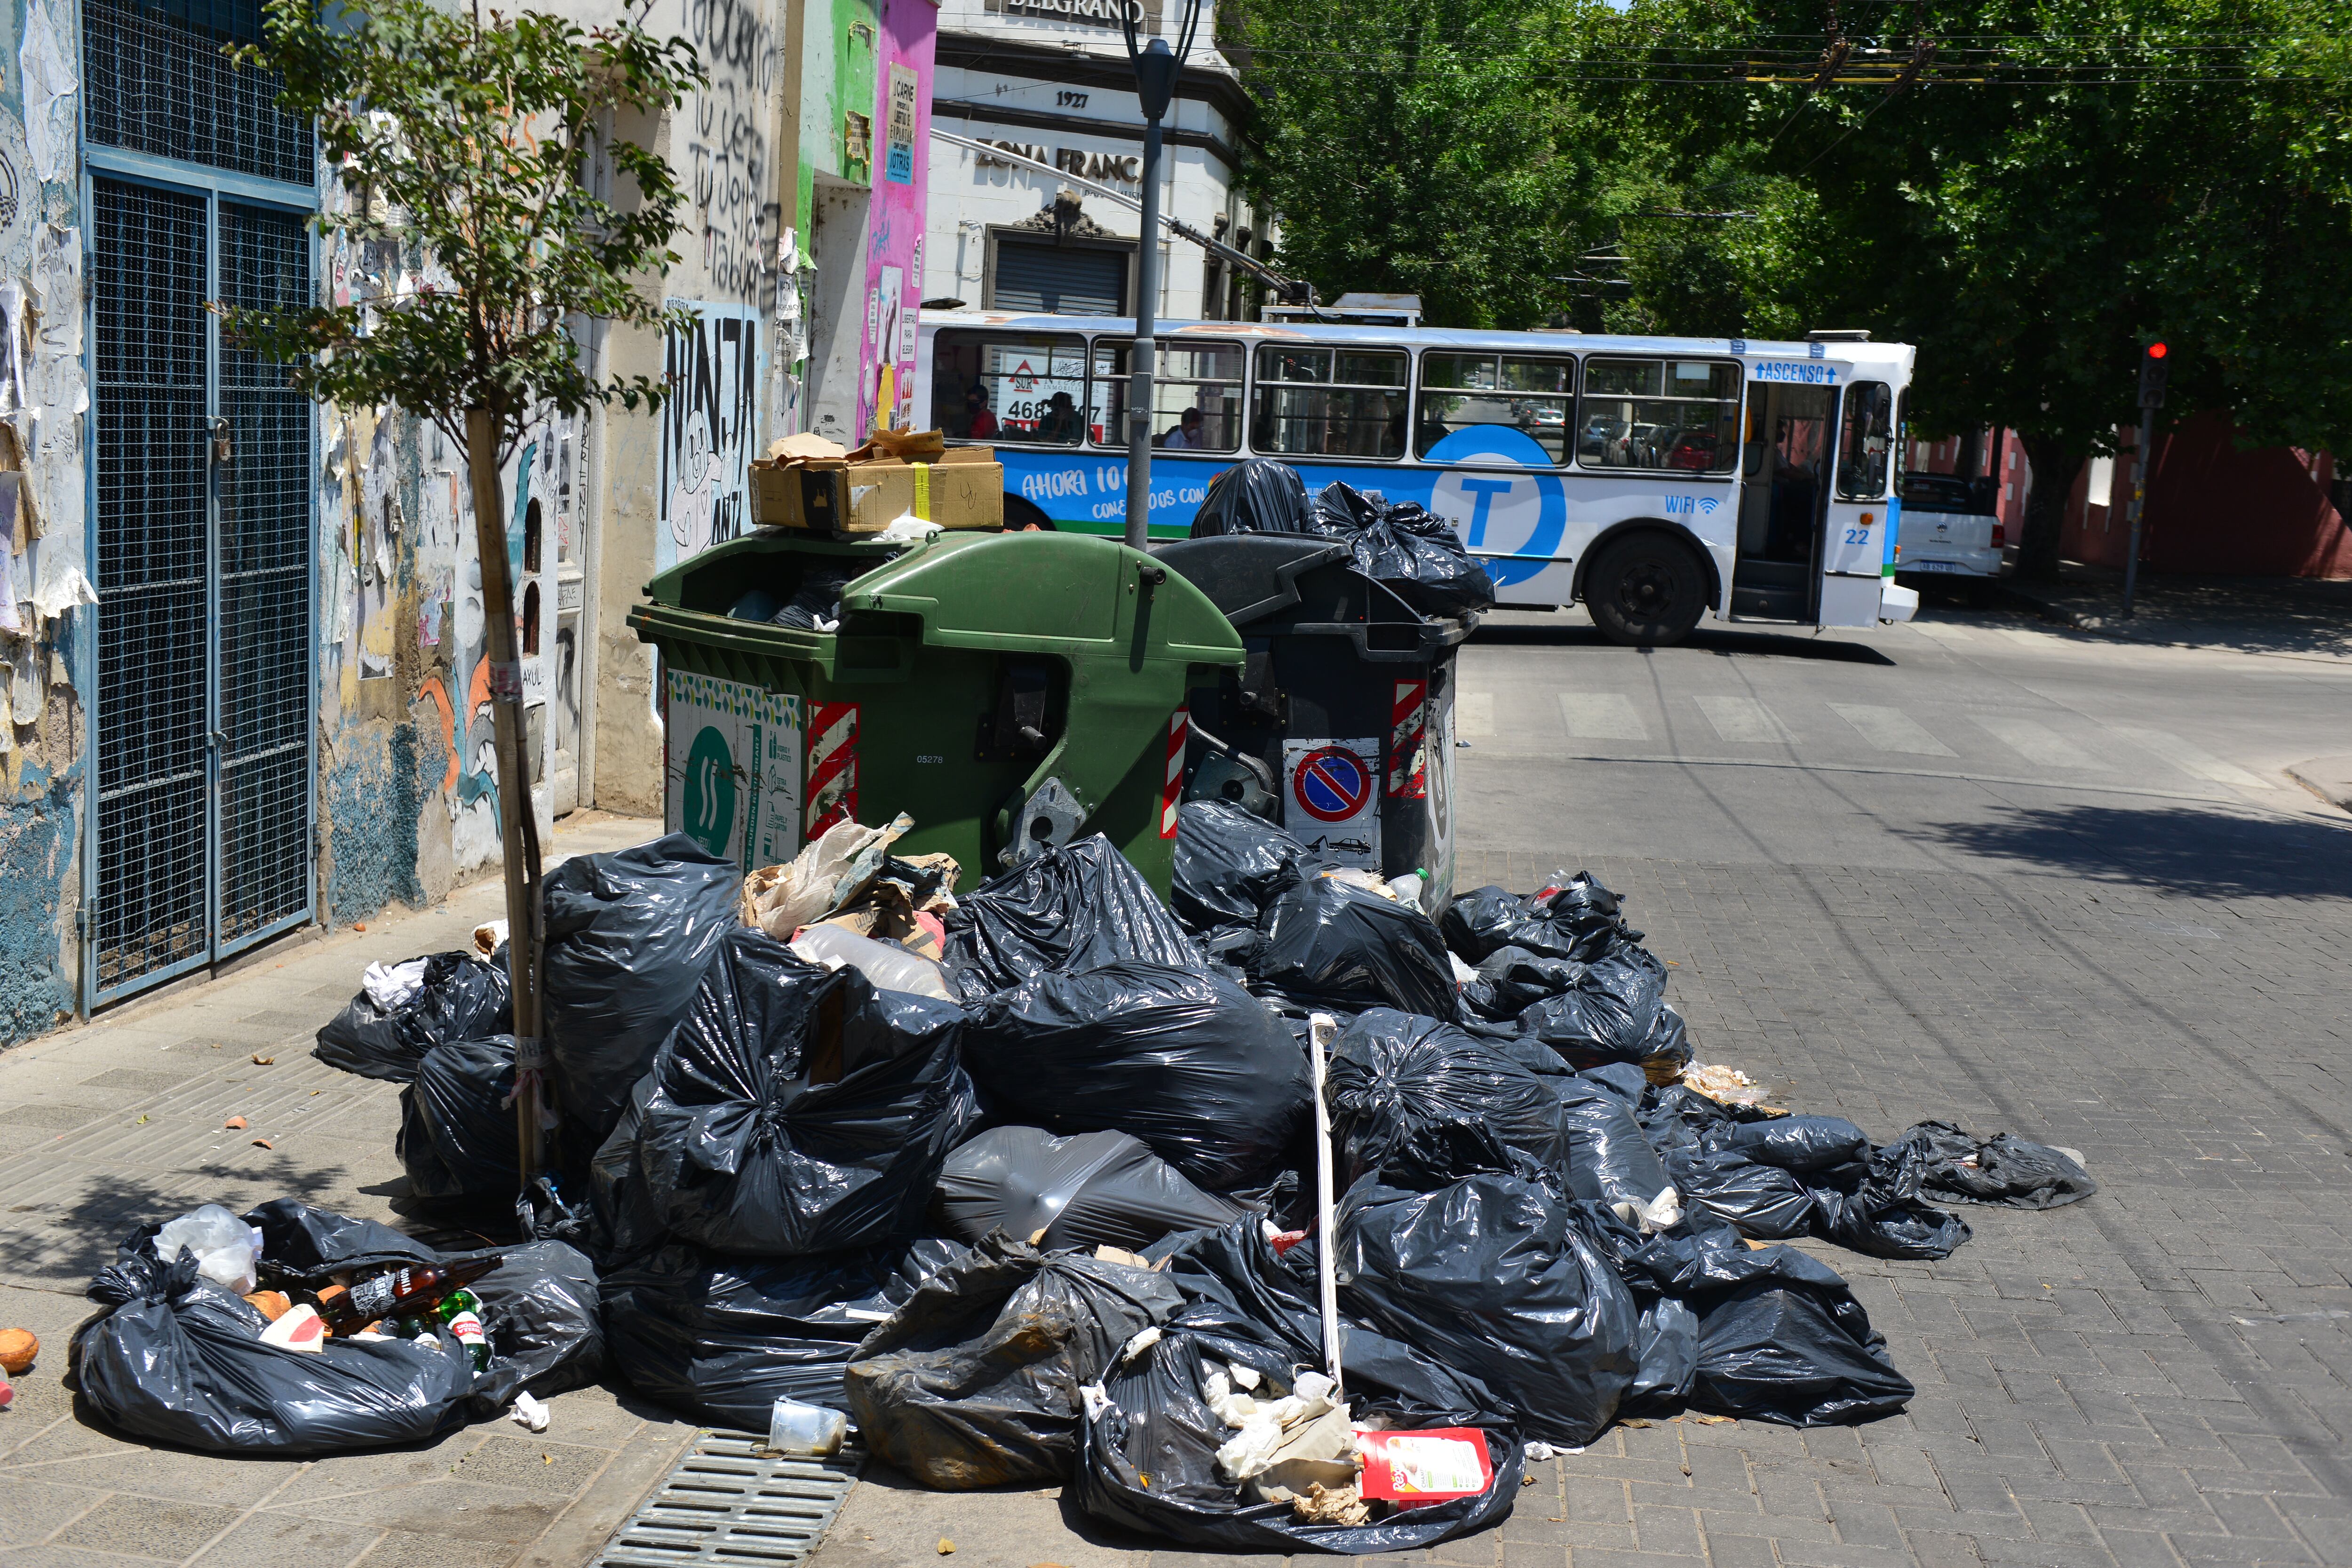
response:
M1778 1276L1759 1276L1710 1295L1698 1309L1698 1373L1691 1406L1832 1427L1893 1415L1910 1403L1910 1378L1886 1356L1886 1335L1842 1279L1795 1248L1776 1246ZM1806 1274L1813 1262L1818 1274ZM1823 1279L1828 1276L1828 1279Z

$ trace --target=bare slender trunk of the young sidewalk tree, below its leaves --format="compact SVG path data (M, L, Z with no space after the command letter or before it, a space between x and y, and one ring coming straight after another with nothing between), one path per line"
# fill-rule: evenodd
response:
M539 1175L543 1138L539 1034L541 886L532 764L522 755L522 663L515 656L515 578L506 559L506 503L499 487L499 433L489 409L466 409L466 468L473 475L473 534L482 555L482 658L499 757L499 832L506 853L506 964L515 983L515 1143L522 1187Z

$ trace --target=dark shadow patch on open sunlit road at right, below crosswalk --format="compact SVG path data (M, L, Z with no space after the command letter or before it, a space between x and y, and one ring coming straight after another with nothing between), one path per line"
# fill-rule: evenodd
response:
M1969 856L2093 882L2213 898L2352 898L2352 823L2197 806L2020 806L2006 820L1922 832Z

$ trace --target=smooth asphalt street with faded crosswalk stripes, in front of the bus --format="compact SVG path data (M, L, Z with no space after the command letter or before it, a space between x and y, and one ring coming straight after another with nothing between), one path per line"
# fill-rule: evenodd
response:
M1468 849L2352 889L2352 820L2284 773L2352 750L2352 661L1952 609L1642 651L1566 611L1458 668Z

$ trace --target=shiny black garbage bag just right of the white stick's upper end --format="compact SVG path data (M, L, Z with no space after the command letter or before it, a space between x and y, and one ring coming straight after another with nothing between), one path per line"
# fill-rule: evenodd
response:
M1552 1091L1454 1025L1371 1009L1334 1041L1327 1074L1343 1182L1378 1173L1425 1192L1479 1171L1555 1187L1569 1175Z

